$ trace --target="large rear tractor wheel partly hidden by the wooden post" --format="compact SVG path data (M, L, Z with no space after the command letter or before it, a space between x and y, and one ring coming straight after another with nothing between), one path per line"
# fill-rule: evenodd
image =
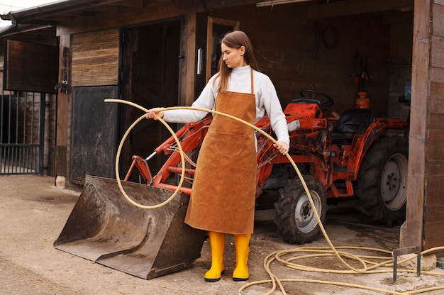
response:
M375 142L362 160L357 177L357 210L375 224L401 225L406 218L406 138L384 136Z

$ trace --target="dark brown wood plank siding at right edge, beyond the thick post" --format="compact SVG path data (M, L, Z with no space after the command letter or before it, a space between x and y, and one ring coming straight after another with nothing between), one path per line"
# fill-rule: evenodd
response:
M444 1L431 4L431 17L424 249L444 245Z

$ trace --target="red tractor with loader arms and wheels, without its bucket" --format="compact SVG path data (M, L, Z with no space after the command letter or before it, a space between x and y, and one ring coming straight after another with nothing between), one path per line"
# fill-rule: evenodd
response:
M305 96L323 96L320 100ZM372 223L392 226L405 219L409 124L403 119L377 117L370 108L352 108L340 118L326 117L333 99L320 91L303 89L284 109L290 131L289 155L298 165L318 215L326 217L327 198L357 198L357 209ZM189 123L177 131L187 153L187 187L190 195L199 147L211 117ZM256 126L273 135L270 120ZM307 243L316 238L319 226L301 180L286 156L280 155L271 140L257 132L257 191L279 191L274 203L274 223L288 243ZM148 161L161 152L170 155L160 171L151 177ZM150 157L133 157L133 167L152 187L175 190L170 177L182 172L180 155L173 138L162 143Z

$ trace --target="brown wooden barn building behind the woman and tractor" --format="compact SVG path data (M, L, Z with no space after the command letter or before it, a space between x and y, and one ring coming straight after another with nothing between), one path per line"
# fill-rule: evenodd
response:
M17 173L53 175L67 186L82 185L84 174L113 177L118 140L140 111L104 99L192 104L217 69L218 38L240 29L282 106L316 89L340 114L364 87L375 113L409 120L401 246L443 245L443 14L443 0L64 0L11 11L1 15L11 21L0 30L1 160L11 166L18 158L28 168ZM39 124L11 131L9 122L22 117ZM18 130L26 130L23 140ZM122 171L131 155L149 155L168 136L157 122L140 123L123 148ZM12 152L18 143L34 150ZM29 168L30 155L39 169Z

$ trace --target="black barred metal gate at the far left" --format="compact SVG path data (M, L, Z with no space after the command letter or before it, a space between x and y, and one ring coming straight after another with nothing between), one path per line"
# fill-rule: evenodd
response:
M43 174L45 94L2 91L0 175Z

